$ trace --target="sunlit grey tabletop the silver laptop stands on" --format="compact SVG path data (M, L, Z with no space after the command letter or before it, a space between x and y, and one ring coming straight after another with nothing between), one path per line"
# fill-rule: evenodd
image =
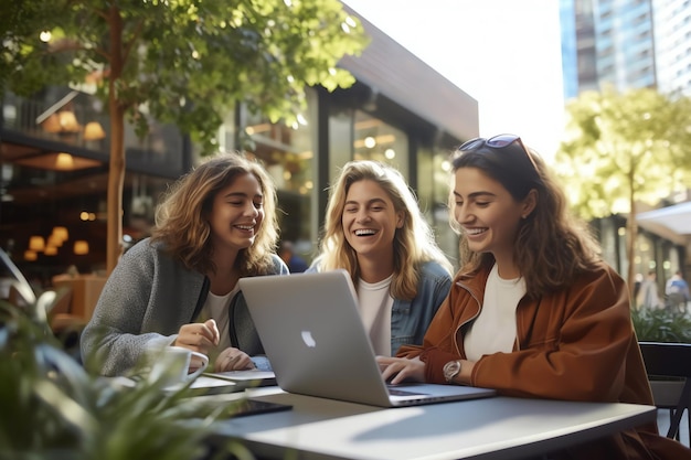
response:
M244 396L293 406L219 425L220 438L241 439L261 459L510 460L656 420L655 406L502 396L398 408L288 394L278 387L252 388ZM223 404L243 394L204 398Z

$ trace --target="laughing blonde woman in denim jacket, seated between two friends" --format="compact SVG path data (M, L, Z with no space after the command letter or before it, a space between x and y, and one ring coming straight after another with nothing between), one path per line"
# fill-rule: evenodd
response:
M374 352L423 335L450 289L451 265L403 175L351 161L330 189L320 253L308 271L347 270Z

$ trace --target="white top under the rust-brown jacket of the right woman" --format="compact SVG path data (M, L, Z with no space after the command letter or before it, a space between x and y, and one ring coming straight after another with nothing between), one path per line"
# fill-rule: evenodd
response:
M464 339L466 356L478 361L485 354L510 353L515 342L515 308L525 296L525 280L502 279L497 264L492 267L485 286L485 302Z

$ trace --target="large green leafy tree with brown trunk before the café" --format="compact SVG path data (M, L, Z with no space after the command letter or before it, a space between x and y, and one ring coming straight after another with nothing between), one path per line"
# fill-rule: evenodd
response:
M30 95L88 77L107 104L108 272L121 254L126 117L139 136L149 119L173 122L210 152L236 101L293 122L306 86L354 83L337 63L368 43L338 0L0 2L0 92Z

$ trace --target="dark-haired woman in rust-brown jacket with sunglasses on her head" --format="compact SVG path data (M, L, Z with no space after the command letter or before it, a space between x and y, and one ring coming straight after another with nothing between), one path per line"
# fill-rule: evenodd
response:
M422 345L379 357L382 376L471 385L514 397L653 405L627 286L521 139L464 143L453 158L450 221L460 270ZM550 459L681 459L655 422Z

